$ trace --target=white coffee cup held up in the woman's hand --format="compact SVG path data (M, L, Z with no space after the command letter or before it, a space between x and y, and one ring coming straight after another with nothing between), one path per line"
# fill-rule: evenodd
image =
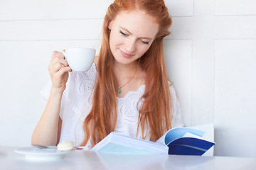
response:
M63 55L72 72L87 72L95 60L93 48L66 48Z

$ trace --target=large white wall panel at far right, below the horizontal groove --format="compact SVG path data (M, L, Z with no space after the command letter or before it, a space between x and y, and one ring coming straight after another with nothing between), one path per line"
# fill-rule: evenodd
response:
M256 156L256 40L215 40L214 123L218 155Z

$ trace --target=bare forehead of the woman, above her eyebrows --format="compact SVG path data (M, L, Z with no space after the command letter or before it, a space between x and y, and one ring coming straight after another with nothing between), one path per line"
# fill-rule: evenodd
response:
M113 21L114 26L129 30L130 33L139 37L154 38L159 30L156 19L144 11L121 11Z

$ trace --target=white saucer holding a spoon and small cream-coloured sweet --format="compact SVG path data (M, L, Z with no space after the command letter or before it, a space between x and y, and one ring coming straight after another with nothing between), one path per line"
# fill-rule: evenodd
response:
M38 149L36 147L23 147L15 149L14 152L25 155L26 159L32 160L52 160L61 159L65 154L73 152L75 149L70 151L58 151L54 149Z

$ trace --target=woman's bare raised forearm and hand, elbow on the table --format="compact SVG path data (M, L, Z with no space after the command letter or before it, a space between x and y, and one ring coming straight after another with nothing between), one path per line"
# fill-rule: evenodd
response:
M35 145L57 145L61 130L60 103L71 69L61 52L53 52L48 69L52 88L45 111L33 131L32 144Z

